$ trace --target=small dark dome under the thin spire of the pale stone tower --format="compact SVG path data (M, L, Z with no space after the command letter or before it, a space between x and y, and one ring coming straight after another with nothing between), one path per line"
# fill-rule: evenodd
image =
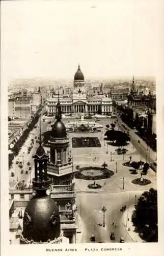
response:
M66 127L61 120L57 120L53 125L51 125L51 127L52 127L52 132L53 132L53 134L52 134L53 138L67 137Z

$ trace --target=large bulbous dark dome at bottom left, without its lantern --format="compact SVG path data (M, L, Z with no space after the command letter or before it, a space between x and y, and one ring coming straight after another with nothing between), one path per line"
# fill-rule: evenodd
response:
M58 238L60 232L57 204L48 195L37 194L26 205L22 236L28 241L47 242Z

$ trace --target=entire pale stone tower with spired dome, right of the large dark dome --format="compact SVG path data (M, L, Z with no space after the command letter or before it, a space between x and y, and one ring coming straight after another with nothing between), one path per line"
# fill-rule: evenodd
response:
M50 138L44 145L48 154L47 175L51 180L50 197L61 211L61 228L70 243L76 243L76 206L74 172L69 139L62 122L61 104L58 94L56 121L51 125ZM68 222L69 221L69 222Z

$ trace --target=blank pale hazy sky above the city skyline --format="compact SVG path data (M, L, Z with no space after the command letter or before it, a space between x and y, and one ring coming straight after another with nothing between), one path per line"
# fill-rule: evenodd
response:
M155 76L156 1L4 1L6 80Z

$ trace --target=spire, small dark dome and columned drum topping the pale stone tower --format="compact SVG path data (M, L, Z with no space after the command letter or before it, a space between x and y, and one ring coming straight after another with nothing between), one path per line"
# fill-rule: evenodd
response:
M49 161L47 173L53 184L71 184L73 163L69 151L69 139L65 124L61 121L62 111L58 96L56 122L51 125L50 138L45 145L48 147ZM62 178L63 177L63 178Z

